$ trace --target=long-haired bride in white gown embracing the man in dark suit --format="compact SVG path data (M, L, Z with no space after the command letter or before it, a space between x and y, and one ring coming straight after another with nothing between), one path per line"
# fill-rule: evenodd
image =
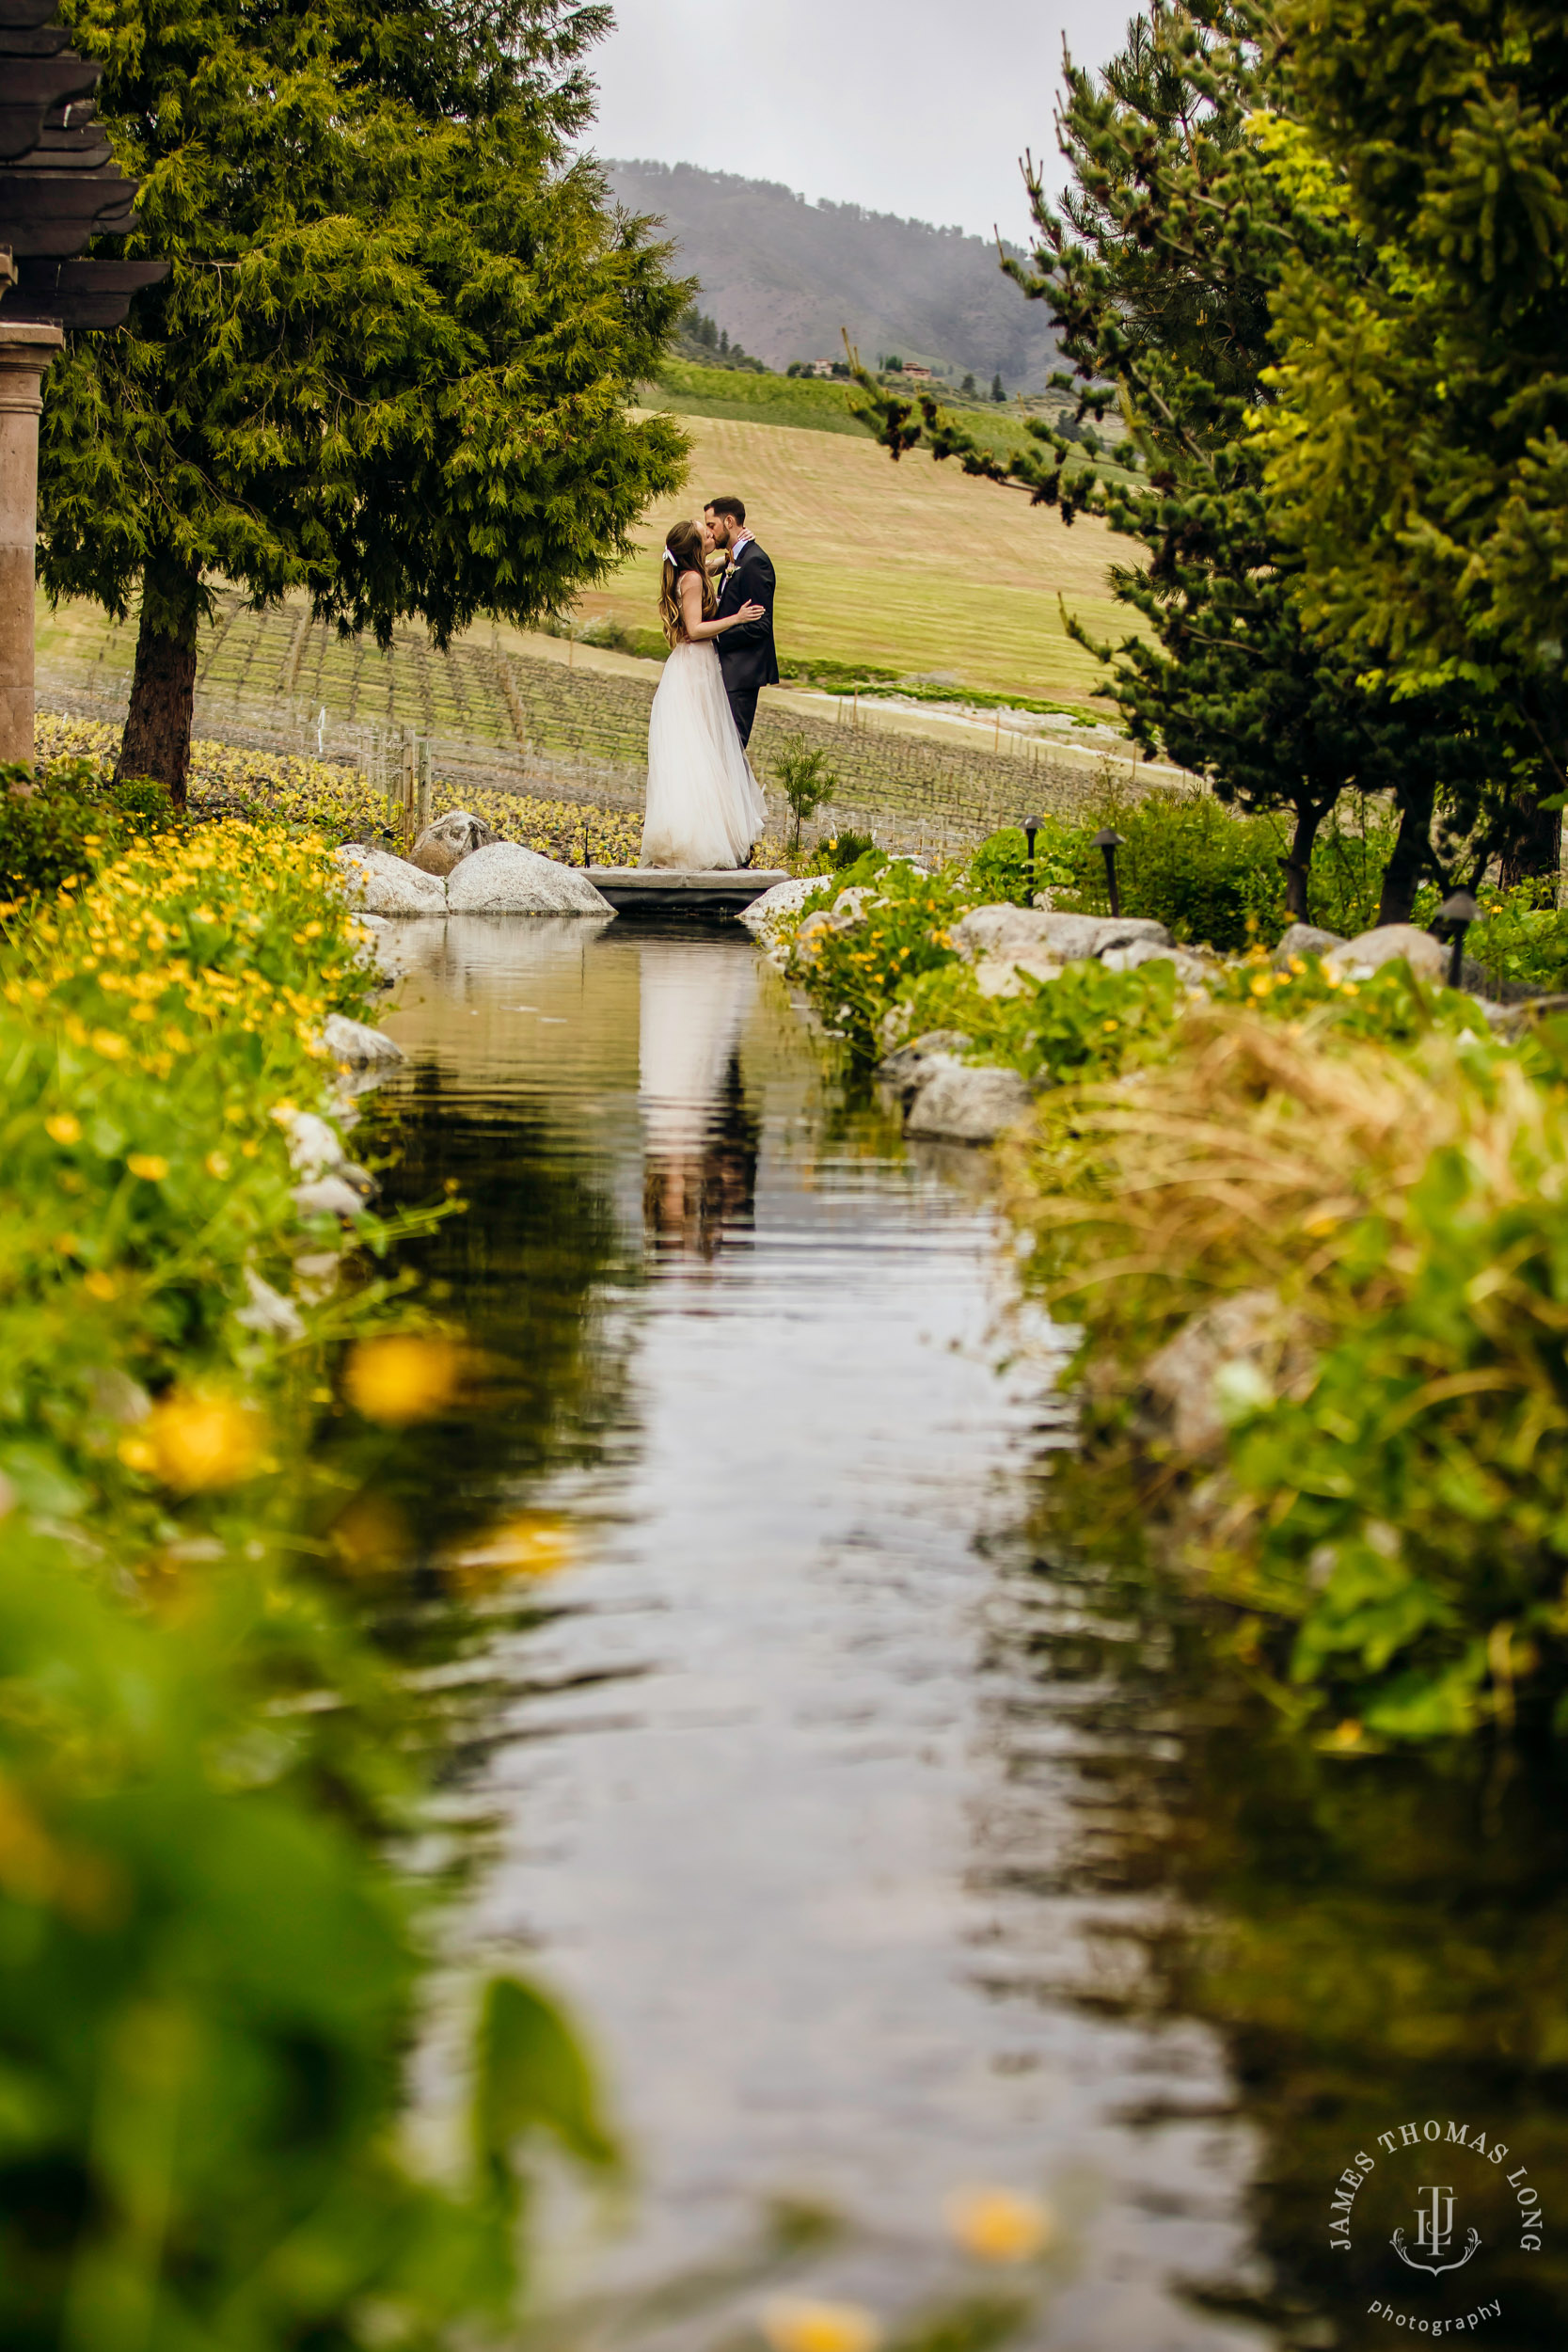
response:
M665 539L658 588L670 659L649 720L649 814L637 858L689 873L745 866L766 823L712 642L741 621L762 619L764 607L743 604L719 621L703 555L703 524L677 522Z

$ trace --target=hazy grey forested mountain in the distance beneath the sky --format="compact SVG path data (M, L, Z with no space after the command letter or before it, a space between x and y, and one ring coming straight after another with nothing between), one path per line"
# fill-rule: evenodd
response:
M684 162L607 172L623 205L668 223L703 310L769 367L839 358L849 329L870 362L898 353L983 381L999 374L1009 393L1044 388L1056 362L1046 315L983 238L809 205L773 181Z

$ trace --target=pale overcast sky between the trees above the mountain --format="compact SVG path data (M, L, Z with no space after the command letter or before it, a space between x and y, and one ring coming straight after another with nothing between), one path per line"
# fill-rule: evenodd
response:
M1018 155L1056 169L1063 33L1100 64L1133 0L616 0L607 158L701 162L1018 242Z

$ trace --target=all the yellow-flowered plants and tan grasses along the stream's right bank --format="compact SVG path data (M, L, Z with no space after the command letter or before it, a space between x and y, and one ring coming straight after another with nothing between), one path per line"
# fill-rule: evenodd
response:
M1331 1743L1563 1733L1568 1018L1507 1042L1406 962L1276 969L1251 833L1152 804L1124 851L1128 913L1225 934L1180 976L1084 962L985 995L954 924L1027 901L1020 835L938 873L860 856L795 917L790 969L863 1063L950 1030L1037 1091L1006 1202L1025 1284L1084 1334L1063 1529L1194 1581L1258 1686ZM1324 849L1342 908L1363 849ZM1058 908L1105 908L1091 851L1086 828L1041 835ZM811 922L856 884L856 920ZM1481 938L1552 981L1563 920L1519 898L1493 894Z

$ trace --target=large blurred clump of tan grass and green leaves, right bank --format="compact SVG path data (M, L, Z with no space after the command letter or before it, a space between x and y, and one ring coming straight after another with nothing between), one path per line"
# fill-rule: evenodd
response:
M1399 990L1406 1040L1356 1035ZM1013 1171L1032 1279L1086 1327L1112 1517L1138 1468L1107 1439L1154 1350L1260 1301L1258 1343L1208 1374L1215 1449L1145 1439L1147 1522L1340 1743L1568 1731L1568 1025L1509 1051L1462 997L1420 1021L1422 995L1378 974L1349 1016L1199 1011L1135 1089L1048 1110Z

